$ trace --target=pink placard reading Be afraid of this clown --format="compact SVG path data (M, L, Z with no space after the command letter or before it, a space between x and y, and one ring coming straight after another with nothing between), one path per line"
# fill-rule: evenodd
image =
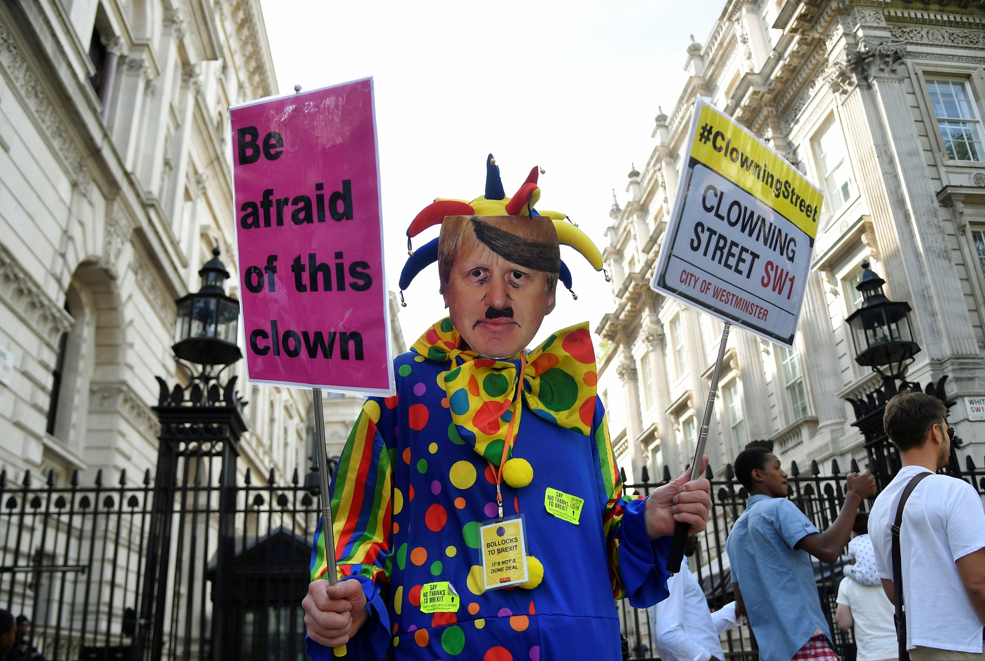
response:
M372 79L230 124L249 379L393 394Z

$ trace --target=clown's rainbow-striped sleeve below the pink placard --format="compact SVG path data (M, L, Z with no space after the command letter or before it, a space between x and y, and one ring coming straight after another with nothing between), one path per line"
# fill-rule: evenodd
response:
M382 403L382 399L370 397L362 405L332 476L332 524L338 578L365 576L377 586L389 583L392 562L392 455L383 441L383 434L377 430ZM311 554L311 580L322 578L328 568L322 535L319 522Z

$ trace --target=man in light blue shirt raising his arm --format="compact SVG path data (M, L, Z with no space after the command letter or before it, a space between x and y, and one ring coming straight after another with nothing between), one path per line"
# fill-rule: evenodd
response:
M835 562L848 543L862 500L875 493L866 471L848 476L841 513L823 533L787 499L787 474L764 447L743 450L736 478L750 498L726 543L738 613L749 618L761 661L832 659L811 556Z

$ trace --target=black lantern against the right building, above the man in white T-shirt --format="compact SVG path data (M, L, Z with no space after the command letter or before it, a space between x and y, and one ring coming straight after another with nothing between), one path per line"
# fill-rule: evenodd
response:
M903 378L906 367L920 353L913 341L909 303L889 300L883 292L886 281L872 272L869 262L862 262L862 306L848 316L855 343L855 362L870 366L880 374ZM886 367L886 372L881 369Z

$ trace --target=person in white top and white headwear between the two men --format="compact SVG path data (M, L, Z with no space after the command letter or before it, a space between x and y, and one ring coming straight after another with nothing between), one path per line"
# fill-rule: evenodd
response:
M876 568L876 554L869 537L868 516L859 512L848 543L845 577L838 585L838 628L855 627L856 661L895 661L896 629L892 624L892 603L886 599Z

